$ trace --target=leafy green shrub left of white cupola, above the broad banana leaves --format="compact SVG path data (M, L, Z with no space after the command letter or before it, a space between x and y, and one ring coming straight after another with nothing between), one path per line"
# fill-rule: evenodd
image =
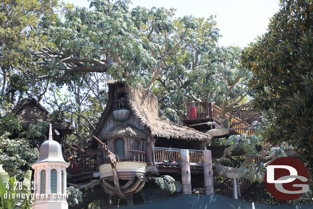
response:
M0 164L10 176L24 177L25 170L37 160L38 149L30 145L27 139L9 139L9 134L0 136Z

